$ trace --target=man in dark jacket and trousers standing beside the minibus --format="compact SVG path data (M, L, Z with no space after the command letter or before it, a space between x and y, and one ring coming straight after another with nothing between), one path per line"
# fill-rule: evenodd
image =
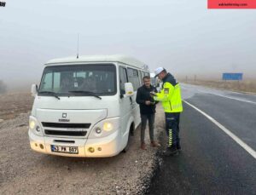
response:
M137 89L136 101L140 105L140 112L142 118L141 126L141 148L146 149L145 129L148 120L149 136L151 146L160 146L159 143L154 141L154 113L155 113L155 101L150 96L150 92L157 92L157 90L150 84L150 77L143 77L143 86Z

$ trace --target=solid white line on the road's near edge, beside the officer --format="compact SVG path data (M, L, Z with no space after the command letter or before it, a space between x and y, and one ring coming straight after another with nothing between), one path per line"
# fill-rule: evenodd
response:
M235 134L233 134L229 129L226 129L221 123L218 123L217 120L212 118L211 116L207 115L206 112L201 111L196 106L190 104L188 101L183 100L187 105L193 107L196 111L200 112L202 115L204 115L206 118L208 118L212 123L216 124L219 129L222 129L224 133L230 136L234 141L236 141L237 144L239 144L243 149L245 149L253 158L256 159L256 152L253 150L252 147L248 146L245 142L241 141L239 137L237 137Z

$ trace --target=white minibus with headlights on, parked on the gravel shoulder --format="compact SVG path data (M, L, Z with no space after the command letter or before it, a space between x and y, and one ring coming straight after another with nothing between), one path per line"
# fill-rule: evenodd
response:
M32 150L69 157L111 157L127 150L141 122L136 103L148 66L125 55L49 60L32 84Z

